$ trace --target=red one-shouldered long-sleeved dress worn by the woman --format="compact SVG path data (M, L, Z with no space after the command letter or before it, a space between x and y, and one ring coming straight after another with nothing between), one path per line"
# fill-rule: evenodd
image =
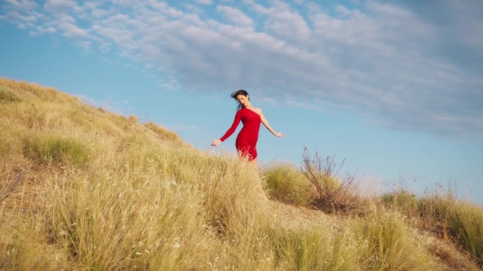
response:
M261 123L261 118L258 113L247 108L241 108L237 111L237 115L235 115L232 127L229 127L220 140L225 141L225 139L231 136L233 132L237 130L240 120L243 123L243 128L241 128L241 131L238 134L235 146L241 153L241 156L244 156L251 161L257 157L256 142L258 141L258 131L260 131Z

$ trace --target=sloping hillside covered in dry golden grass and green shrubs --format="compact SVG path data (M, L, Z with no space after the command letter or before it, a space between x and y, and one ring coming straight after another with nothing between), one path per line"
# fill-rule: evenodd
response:
M360 196L330 159L258 172L155 123L1 78L0 130L0 270L483 266L482 208L439 191Z

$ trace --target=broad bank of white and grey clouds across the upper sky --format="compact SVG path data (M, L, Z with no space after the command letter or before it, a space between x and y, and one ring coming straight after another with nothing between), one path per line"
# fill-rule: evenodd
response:
M119 51L172 89L244 87L395 129L483 135L481 1L6 0L0 14Z

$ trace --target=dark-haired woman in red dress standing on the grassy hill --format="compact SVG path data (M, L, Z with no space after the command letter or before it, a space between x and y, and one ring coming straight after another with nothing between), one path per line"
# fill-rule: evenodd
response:
M238 155L242 159L248 159L250 162L257 164L256 142L258 141L258 131L260 130L260 123L272 132L275 137L283 137L282 132L275 132L268 121L263 116L260 108L251 105L250 96L244 89L232 93L232 98L239 102L238 111L235 115L232 127L229 127L225 135L220 139L214 139L211 146L218 146L233 134L241 122L243 128L238 134L235 146L237 147Z

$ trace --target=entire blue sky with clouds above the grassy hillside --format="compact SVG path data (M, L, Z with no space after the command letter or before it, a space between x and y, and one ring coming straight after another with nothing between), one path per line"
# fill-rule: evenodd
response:
M483 1L1 0L0 77L209 153L246 89L261 166L335 156L362 186L483 204ZM241 125L238 127L240 130Z

